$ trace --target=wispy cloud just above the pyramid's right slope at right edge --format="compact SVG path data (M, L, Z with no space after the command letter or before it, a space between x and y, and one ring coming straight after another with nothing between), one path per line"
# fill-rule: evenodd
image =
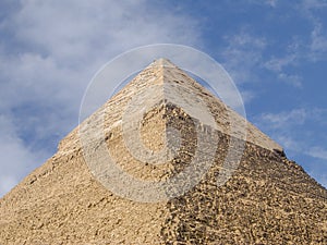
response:
M305 168L324 186L327 186L327 137L326 125L327 109L299 108L279 113L263 113L255 119L259 128L264 130L275 140L280 143L287 154L299 159L306 159ZM319 133L320 132L320 133ZM298 157L296 157L298 156ZM310 158L308 158L310 157Z

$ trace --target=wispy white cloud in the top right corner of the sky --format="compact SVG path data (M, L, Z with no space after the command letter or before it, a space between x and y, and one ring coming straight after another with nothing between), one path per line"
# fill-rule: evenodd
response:
M303 78L300 74L292 74L288 71L289 68L299 68L304 62L316 62L326 59L327 52L327 36L324 32L324 21L320 20L320 14L316 11L322 11L327 7L327 2L317 0L304 0L298 2L294 10L298 14L307 20L312 25L312 30L306 35L294 35L291 44L286 47L284 53L281 57L272 57L264 63L264 66L276 73L277 78L286 84L298 88L303 87Z

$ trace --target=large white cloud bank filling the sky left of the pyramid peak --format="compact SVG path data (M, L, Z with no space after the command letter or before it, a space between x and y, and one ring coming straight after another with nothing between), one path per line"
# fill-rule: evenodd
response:
M10 140L0 135L0 196L50 157L26 140L63 135L77 124L83 91L105 62L141 45L201 42L191 16L152 4L27 0L0 21L1 131L11 132Z

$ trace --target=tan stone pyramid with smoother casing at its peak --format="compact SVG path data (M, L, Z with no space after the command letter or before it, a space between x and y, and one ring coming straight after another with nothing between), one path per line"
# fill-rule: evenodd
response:
M0 244L326 244L326 200L277 143L160 59L0 199Z

